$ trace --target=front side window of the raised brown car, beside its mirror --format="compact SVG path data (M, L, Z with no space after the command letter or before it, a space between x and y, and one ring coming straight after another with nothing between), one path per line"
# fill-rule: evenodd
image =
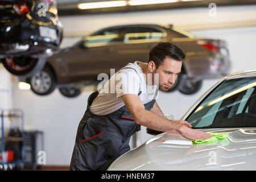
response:
M105 46L113 42L123 42L123 28L112 28L87 36L84 47Z

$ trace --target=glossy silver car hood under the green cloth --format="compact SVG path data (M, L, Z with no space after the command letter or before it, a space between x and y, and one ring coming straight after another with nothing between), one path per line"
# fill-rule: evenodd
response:
M108 170L256 169L256 128L201 130L229 133L229 137L192 144L178 134L162 133L120 156Z

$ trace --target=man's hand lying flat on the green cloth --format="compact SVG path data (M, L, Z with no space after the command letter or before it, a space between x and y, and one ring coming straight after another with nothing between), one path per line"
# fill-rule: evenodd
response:
M213 135L205 133L203 131L200 130L193 130L187 126L181 126L180 127L180 134L190 140L205 140L208 139L210 137L213 137Z

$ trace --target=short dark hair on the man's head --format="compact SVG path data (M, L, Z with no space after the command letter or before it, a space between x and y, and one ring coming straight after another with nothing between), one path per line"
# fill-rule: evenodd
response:
M186 57L185 53L175 44L160 42L150 50L148 62L154 61L156 69L158 69L159 65L163 64L167 56L177 61L182 61Z

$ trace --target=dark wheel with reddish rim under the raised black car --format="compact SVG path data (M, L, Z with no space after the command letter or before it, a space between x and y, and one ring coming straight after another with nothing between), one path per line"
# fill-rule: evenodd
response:
M2 60L3 66L13 75L30 77L46 65L46 59L32 57L7 57Z

